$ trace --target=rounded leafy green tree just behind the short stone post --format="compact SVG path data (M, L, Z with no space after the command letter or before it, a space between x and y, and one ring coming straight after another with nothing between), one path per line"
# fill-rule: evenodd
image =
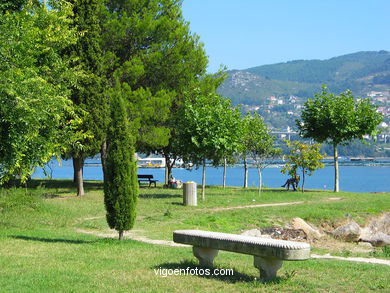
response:
M204 199L206 160L219 165L229 153L238 149L240 112L230 101L216 93L192 92L182 109L178 125L183 159L203 166L202 199Z

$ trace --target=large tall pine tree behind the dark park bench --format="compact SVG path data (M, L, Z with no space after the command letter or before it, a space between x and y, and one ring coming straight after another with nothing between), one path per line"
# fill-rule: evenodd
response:
M199 37L190 32L180 0L108 0L104 50L112 65L112 84L121 83L137 150L162 153L166 183L178 158L178 109L185 93L198 87L207 67ZM110 59L109 57L112 57ZM104 158L104 154L102 154ZM103 160L104 161L104 160Z

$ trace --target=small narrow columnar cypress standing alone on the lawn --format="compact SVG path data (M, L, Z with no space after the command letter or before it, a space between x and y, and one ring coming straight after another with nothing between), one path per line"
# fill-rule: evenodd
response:
M114 95L107 132L104 204L107 223L119 232L119 240L124 231L134 226L138 198L134 138L130 131L125 102L120 95Z

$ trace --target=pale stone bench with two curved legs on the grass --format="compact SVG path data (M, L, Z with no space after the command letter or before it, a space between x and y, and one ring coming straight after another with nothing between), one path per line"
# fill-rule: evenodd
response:
M253 255L254 266L260 270L262 281L275 278L284 260L310 258L310 245L295 241L201 230L174 231L173 241L192 245L194 256L203 266L212 266L219 250Z

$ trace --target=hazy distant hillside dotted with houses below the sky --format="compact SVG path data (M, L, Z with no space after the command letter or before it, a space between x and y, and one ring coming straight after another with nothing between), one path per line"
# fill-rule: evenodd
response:
M229 71L219 92L233 103L261 105L266 97L311 97L326 84L355 95L390 88L390 52L358 52L328 60L295 60Z

